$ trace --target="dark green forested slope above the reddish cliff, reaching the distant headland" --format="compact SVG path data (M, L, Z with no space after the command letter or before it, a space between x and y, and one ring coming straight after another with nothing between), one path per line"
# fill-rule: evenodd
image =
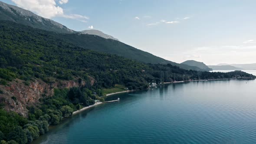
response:
M132 89L147 88L148 82L171 82L188 79L232 78L232 73L197 72L171 64L153 65L95 52L74 46L58 34L29 26L1 21L0 78L2 83L19 78L42 79L95 78L98 88L122 84ZM102 45L102 49L105 45ZM55 67L57 71L55 73ZM243 73L246 75L246 73ZM247 75L251 76L251 75Z

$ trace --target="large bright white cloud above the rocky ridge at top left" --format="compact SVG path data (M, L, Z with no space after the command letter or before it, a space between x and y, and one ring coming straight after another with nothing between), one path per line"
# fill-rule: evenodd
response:
M89 18L87 16L82 16L78 14L67 15L64 10L56 5L56 0L12 0L18 7L26 10L30 10L39 16L45 18L53 18L56 16L65 17L68 19L79 20L81 22L86 22ZM68 0L59 0L60 4L67 3Z

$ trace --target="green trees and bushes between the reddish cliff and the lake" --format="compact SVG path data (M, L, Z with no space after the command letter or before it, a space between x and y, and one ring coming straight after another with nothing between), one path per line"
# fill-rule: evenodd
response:
M42 98L42 105L29 107L24 118L0 109L0 144L26 144L45 134L49 125L59 124L73 111L95 103L95 95L87 88L56 89L53 97Z

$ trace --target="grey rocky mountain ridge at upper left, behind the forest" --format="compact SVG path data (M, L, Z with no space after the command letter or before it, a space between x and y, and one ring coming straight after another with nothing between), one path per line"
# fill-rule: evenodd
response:
M9 20L37 29L53 31L57 33L75 33L74 30L63 26L53 20L38 16L29 10L24 10L0 1L0 20Z

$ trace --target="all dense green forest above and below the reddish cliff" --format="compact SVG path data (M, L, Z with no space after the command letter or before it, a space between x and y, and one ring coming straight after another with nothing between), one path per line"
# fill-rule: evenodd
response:
M137 62L75 46L57 33L7 21L0 23L0 39L1 85L8 85L14 79L23 80L25 85L34 79L42 79L46 83L73 79L89 83L89 77L96 80L94 85L87 84L81 88L56 89L52 97L41 98L40 105L27 108L28 118L1 109L0 140L3 144L33 141L48 131L49 124L59 124L73 111L94 104L95 99L100 99L98 96L108 92L105 88L113 88L117 84L119 89L145 89L151 82L255 77L245 72L198 72L171 64Z

